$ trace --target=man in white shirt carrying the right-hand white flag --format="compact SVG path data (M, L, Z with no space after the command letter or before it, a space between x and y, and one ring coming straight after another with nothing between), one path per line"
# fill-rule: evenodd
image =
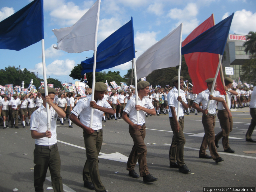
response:
M178 96L178 80L180 80L180 96ZM184 144L186 142L183 134L184 129L184 113L183 110L187 110L187 100L183 88L183 77L178 76L172 79L174 88L170 90L167 95L168 106L170 108L169 120L172 128L172 143L169 151L170 168L179 168L182 173L189 173L190 169L187 168L184 158ZM179 112L177 113L179 105Z

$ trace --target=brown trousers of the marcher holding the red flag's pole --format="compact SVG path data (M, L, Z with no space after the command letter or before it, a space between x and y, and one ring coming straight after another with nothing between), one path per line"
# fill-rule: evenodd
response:
M228 136L233 129L233 119L232 117L228 117L228 112L225 109L218 110L217 116L218 119L220 120L220 127L222 131L215 135L215 140L219 141L222 138L223 149L227 150L229 148Z

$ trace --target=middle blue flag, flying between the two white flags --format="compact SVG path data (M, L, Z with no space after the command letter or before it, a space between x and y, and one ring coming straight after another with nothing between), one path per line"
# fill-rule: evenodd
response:
M97 47L96 72L121 65L135 58L133 18ZM94 56L81 62L82 72L93 71Z

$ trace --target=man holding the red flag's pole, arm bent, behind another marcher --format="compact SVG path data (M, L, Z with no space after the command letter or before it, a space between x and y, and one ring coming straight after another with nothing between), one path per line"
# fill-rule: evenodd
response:
M223 104L221 102L218 103L217 109L218 109L218 119L220 120L220 127L222 131L220 131L216 136L215 136L215 146L218 148L218 141L222 138L222 146L224 148L225 152L228 153L234 153L235 151L230 148L229 143L228 143L228 136L229 133L233 129L233 119L232 115L230 112L230 107L231 107L231 97L232 95L238 95L236 91L231 90L230 88L232 87L233 80L229 77L225 77L225 85L224 89L226 90L226 97L227 97L227 105L228 105L228 111L224 108ZM222 98L225 98L224 95L222 95Z

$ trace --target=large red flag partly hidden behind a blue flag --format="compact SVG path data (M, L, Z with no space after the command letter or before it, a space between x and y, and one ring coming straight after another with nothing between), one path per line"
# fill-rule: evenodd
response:
M214 26L213 14L187 36L182 42L182 47L212 26ZM192 80L193 93L199 94L207 89L205 80L214 78L215 76L219 61L218 54L196 52L185 54L184 57L187 63L189 76ZM217 76L216 83L217 90L220 94L226 94L220 79L220 74Z

